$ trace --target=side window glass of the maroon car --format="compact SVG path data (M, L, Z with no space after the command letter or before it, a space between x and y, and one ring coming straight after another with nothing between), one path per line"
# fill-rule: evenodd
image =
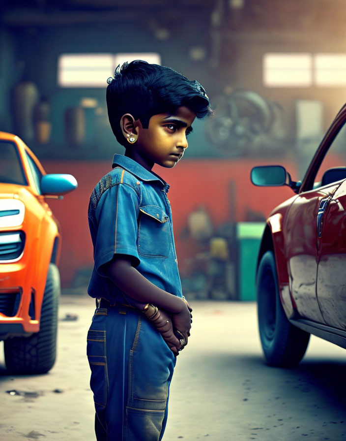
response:
M324 173L334 167L346 167L346 124L341 127L322 160L317 171L314 188L318 188L323 184L321 180Z

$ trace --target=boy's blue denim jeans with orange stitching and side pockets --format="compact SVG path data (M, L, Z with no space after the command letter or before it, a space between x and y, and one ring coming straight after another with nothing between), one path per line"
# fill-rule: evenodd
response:
M175 357L152 323L121 304L97 308L87 357L97 441L161 440Z

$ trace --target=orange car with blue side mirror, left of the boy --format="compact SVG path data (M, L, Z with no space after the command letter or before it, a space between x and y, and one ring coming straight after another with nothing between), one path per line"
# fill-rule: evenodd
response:
M61 234L46 198L76 188L72 175L46 174L18 136L0 131L0 340L10 372L54 365Z

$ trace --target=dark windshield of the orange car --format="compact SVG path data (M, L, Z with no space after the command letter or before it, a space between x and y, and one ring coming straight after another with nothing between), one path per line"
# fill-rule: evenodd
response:
M18 148L13 142L0 141L0 183L28 185Z

